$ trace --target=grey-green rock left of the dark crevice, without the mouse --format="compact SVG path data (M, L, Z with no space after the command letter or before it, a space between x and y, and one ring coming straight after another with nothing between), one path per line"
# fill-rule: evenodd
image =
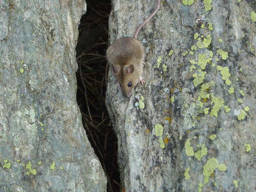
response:
M0 3L0 191L106 191L76 103L82 0Z

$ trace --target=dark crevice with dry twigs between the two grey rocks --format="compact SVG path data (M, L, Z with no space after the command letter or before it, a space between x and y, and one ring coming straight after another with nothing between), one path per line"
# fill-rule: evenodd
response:
M87 137L107 176L107 190L120 191L117 138L105 106L108 72L105 55L111 0L86 0L86 4L76 46L77 103Z

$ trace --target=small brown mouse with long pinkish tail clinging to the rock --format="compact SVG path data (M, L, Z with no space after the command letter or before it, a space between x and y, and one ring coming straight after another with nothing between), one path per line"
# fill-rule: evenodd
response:
M127 97L131 97L133 88L138 83L145 83L141 77L144 63L144 49L139 40L136 39L140 29L155 15L160 6L157 0L156 9L145 19L135 31L133 38L121 37L107 49L107 59L116 76L121 89Z

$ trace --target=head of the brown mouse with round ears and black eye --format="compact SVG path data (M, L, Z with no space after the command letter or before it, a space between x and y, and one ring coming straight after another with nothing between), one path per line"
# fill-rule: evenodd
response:
M131 97L133 88L138 84L141 76L140 71L136 70L133 64L126 66L116 66L111 64L115 72L116 79L118 80L122 91L126 97Z

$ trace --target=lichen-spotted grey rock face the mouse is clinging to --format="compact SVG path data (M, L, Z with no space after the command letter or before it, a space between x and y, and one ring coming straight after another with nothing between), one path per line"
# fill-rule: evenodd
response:
M110 44L132 37L156 2L112 6ZM126 98L110 71L125 191L256 190L255 12L253 1L161 1L137 37L146 84Z

